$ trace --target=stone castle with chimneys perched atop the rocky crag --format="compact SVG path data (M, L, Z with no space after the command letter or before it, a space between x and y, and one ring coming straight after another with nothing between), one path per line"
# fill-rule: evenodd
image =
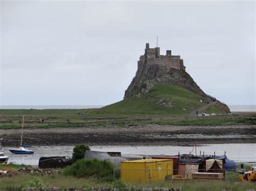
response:
M150 48L146 43L145 54L140 56L138 61L138 70L142 70L144 63L147 65L159 65L161 68L174 68L185 71L183 60L180 56L172 55L172 51L167 50L166 55L160 55L160 47Z

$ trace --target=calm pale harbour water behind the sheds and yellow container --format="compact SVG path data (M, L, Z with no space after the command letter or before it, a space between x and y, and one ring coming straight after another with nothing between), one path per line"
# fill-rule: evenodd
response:
M191 146L91 146L93 151L113 151L121 152L122 154L142 154L142 155L176 155L188 154L192 151ZM36 146L33 147L35 154L33 155L18 155L12 154L4 149L5 155L9 157L9 163L38 165L40 157L65 156L71 157L73 153L73 146ZM256 144L210 144L198 145L197 154L215 154L223 155L226 151L228 158L237 162L255 162L256 161ZM194 152L193 152L194 154Z

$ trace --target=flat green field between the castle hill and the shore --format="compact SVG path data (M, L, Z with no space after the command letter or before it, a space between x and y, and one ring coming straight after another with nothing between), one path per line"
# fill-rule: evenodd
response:
M209 108L215 111L214 108ZM86 126L127 126L127 125L235 125L256 124L256 114L220 115L209 117L138 115L108 116L92 115L97 109L45 109L45 110L0 110L0 129L21 128L22 116L25 115L24 128L72 128ZM87 115L90 113L90 115ZM44 123L39 123L44 119Z

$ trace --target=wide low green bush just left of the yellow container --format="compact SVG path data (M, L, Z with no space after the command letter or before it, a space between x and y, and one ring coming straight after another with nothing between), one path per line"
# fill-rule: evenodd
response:
M64 169L64 175L77 178L96 177L102 181L113 181L114 165L110 161L98 159L81 159Z

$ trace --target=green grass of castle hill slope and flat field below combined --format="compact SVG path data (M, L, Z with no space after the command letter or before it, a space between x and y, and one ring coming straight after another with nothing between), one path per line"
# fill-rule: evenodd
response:
M203 100L203 103L200 102ZM200 95L174 84L156 84L149 93L98 109L2 109L0 129L76 128L86 126L126 125L231 125L256 124L256 116L190 117L191 111L205 105ZM205 112L223 114L223 105L217 103ZM82 115L83 113L83 115ZM171 119L162 119L162 118ZM44 119L45 123L38 123Z

